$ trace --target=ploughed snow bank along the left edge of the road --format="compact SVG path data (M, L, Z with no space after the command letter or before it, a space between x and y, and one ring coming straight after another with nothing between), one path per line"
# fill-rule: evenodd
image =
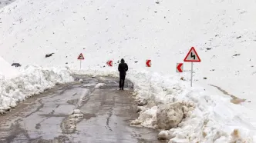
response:
M0 80L0 113L56 84L73 81L66 68L26 67L18 76Z

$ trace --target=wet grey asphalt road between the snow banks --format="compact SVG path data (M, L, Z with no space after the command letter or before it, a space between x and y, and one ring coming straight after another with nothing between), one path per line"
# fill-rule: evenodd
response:
M158 131L130 126L138 116L130 81L119 91L116 78L76 77L84 82L58 85L0 116L0 142L161 142ZM95 88L97 83L106 85ZM69 126L73 109L83 114L76 128Z

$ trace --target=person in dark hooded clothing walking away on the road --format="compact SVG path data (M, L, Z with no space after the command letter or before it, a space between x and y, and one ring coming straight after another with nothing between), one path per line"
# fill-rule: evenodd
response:
M124 80L126 79L126 71L128 71L128 65L121 59L121 63L118 65L118 71L120 71L119 88L123 90Z

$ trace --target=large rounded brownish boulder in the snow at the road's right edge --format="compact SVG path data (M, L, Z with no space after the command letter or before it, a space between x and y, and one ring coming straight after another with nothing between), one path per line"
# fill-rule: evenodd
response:
M157 125L160 129L176 128L184 118L183 104L180 102L160 105L157 108Z

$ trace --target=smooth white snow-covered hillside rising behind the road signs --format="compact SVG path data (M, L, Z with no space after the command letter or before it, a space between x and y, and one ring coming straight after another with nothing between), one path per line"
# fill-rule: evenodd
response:
M82 65L85 70L113 71L117 61L124 58L135 71L156 71L188 81L190 63L184 65L183 74L177 74L175 68L194 46L202 60L194 64L194 84L212 93L211 98L223 96L227 101L225 107L225 103L218 106L212 99L212 107L232 107L232 111L241 107L241 111L248 108L253 112L256 108L255 7L254 0L17 0L0 9L0 56L22 66L79 68L76 58L82 52L86 58ZM55 54L45 58L49 53ZM113 68L104 67L109 59L114 61ZM146 59L152 60L152 68L145 67ZM136 81L135 74L129 74ZM229 96L210 85L246 101L229 105ZM184 88L188 87L184 85ZM226 119L239 121L239 116L237 113ZM253 115L250 122L246 127L255 126Z

